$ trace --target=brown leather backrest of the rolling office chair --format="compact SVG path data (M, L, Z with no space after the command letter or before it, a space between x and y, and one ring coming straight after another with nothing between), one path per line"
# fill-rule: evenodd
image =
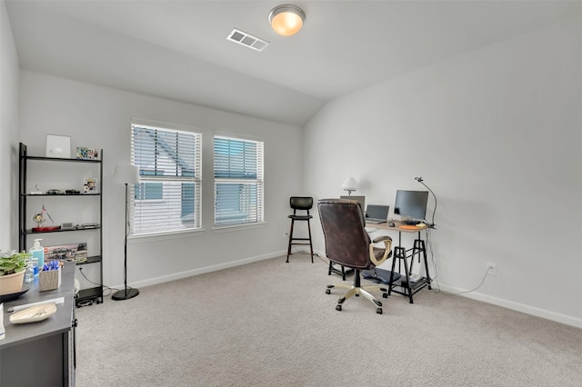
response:
M326 256L331 261L355 269L371 269L370 236L360 203L346 199L317 202L319 219L326 239Z

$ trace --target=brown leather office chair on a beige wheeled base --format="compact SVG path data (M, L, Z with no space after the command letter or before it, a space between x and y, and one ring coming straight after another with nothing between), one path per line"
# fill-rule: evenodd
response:
M337 301L336 310L341 311L342 304L348 298L362 295L376 305L376 313L382 314L382 303L368 292L381 291L382 296L387 298L387 289L379 285L361 286L360 271L371 270L386 262L392 255L392 238L383 235L371 241L366 233L364 211L354 200L322 199L317 202L317 209L326 239L327 258L354 269L354 284L327 285L327 294L333 288L347 290ZM380 242L384 243L383 248L375 246Z

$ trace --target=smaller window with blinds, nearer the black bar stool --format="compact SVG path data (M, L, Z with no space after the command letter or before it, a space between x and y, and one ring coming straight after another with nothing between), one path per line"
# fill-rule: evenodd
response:
M215 225L261 223L263 142L215 136Z

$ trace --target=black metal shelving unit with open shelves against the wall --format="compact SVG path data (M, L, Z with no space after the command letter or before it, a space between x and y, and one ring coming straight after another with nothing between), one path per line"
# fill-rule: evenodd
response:
M37 236L39 234L47 234L47 233L98 233L98 253L93 256L88 256L86 261L84 262L77 262L76 265L85 265L91 263L98 263L99 264L99 283L95 287L82 289L79 291L76 297L76 302L80 303L85 300L95 301L96 303L103 303L103 232L101 228L102 219L103 219L103 150L100 150L101 159L100 160L80 160L80 159L71 159L71 158L57 158L57 157L40 157L40 156L30 156L27 154L27 148L25 144L20 143L20 163L19 163L19 193L18 193L18 232L19 232L19 242L18 242L18 249L19 251L27 250L29 246L32 244L29 242L34 238L29 238L30 235ZM28 193L26 190L26 176L28 170L28 163L30 161L40 162L40 163L88 163L88 164L98 164L99 176L98 176L98 187L97 193L68 193L68 194L48 194L48 193L39 193L33 194ZM58 174L55 174L55 178L57 178ZM27 202L30 197L39 197L42 196L46 199L50 200L67 200L71 199L72 197L95 197L98 196L98 225L91 228L68 228L68 229L57 229L53 231L33 231L32 229L26 229L26 219L27 216L30 214L26 213Z

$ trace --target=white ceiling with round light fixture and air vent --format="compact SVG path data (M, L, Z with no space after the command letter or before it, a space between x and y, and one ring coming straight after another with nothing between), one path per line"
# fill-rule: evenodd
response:
M582 1L5 0L20 67L303 125L330 99L582 12ZM270 45L226 40L233 28Z

